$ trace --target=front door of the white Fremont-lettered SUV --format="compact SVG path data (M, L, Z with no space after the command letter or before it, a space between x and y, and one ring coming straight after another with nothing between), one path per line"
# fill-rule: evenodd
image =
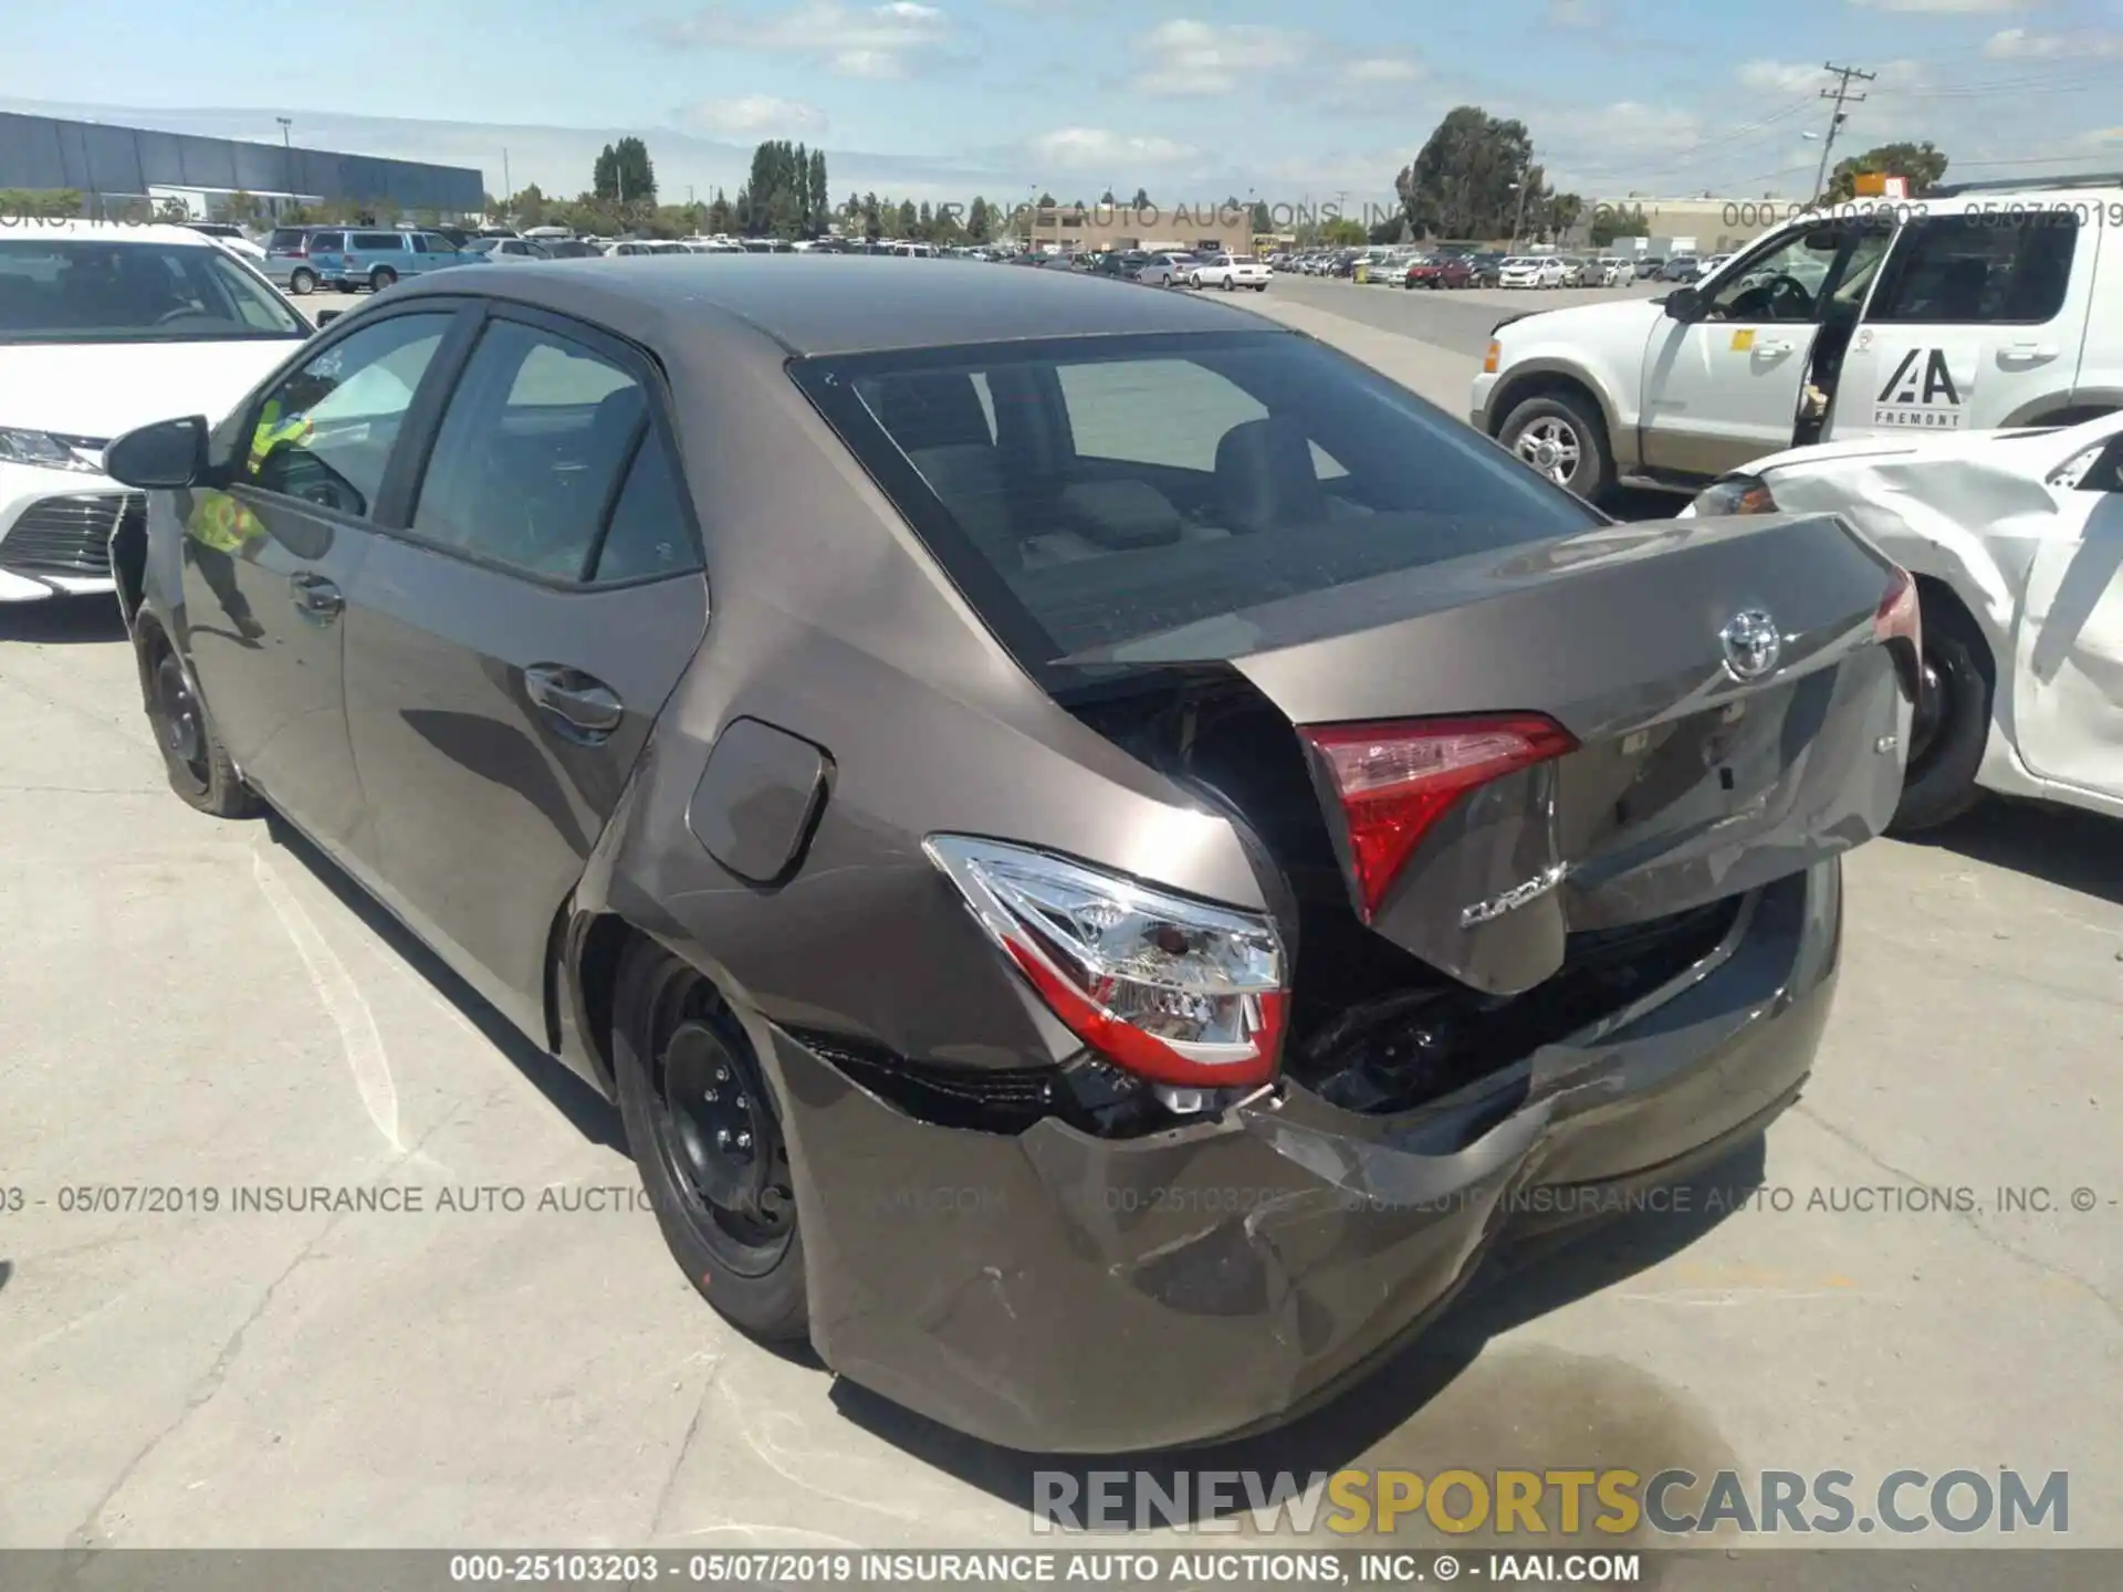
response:
M1851 257L1885 246L1851 225L1792 227L1701 282L1696 314L1643 350L1645 467L1711 478L1790 448L1824 308Z

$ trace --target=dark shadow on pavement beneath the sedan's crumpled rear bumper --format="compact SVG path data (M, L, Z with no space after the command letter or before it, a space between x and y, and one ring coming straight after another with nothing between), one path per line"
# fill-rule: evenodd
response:
M951 1431L845 1378L834 1384L832 1399L847 1420L1028 1513L1036 1501L1036 1475L1070 1475L1076 1496L1089 1496L1091 1471L1129 1471L1157 1477L1172 1499L1185 1503L1187 1518L1199 1522L1210 1516L1199 1507L1199 1488L1178 1486L1183 1473L1259 1471L1272 1477L1289 1471L1304 1477L1357 1465L1467 1373L1492 1339L1679 1254L1743 1208L1764 1176L1766 1140L1758 1134L1720 1163L1673 1184L1667 1210L1639 1208L1599 1225L1501 1246L1459 1299L1401 1352L1331 1403L1250 1437L1119 1456L1023 1454ZM1185 1350L1174 1346L1174 1352ZM1248 1509L1242 1490L1233 1492L1238 1499L1223 1511L1225 1518Z

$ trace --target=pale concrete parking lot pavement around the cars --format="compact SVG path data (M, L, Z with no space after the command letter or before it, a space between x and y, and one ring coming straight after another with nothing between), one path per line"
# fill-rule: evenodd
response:
M1465 412L1497 316L1628 291L1233 297ZM2070 1541L2123 1547L2117 834L1991 804L1856 853L1764 1144L1185 1465L2068 1471ZM1030 1537L1038 1456L724 1327L603 1102L301 841L166 790L104 601L0 607L0 1543Z

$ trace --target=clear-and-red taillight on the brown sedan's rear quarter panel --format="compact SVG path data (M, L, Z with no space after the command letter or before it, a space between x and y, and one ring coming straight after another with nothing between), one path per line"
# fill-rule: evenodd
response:
M960 834L924 851L1070 1032L1140 1078L1223 1089L1276 1070L1289 1002L1270 919Z

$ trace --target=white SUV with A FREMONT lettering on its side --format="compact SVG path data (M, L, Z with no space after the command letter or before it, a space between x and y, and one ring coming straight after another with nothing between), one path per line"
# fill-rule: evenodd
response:
M2076 221L2112 202L1809 217L1658 299L1507 318L1473 420L1594 501L1813 442L2076 425L2123 405L2123 250Z

